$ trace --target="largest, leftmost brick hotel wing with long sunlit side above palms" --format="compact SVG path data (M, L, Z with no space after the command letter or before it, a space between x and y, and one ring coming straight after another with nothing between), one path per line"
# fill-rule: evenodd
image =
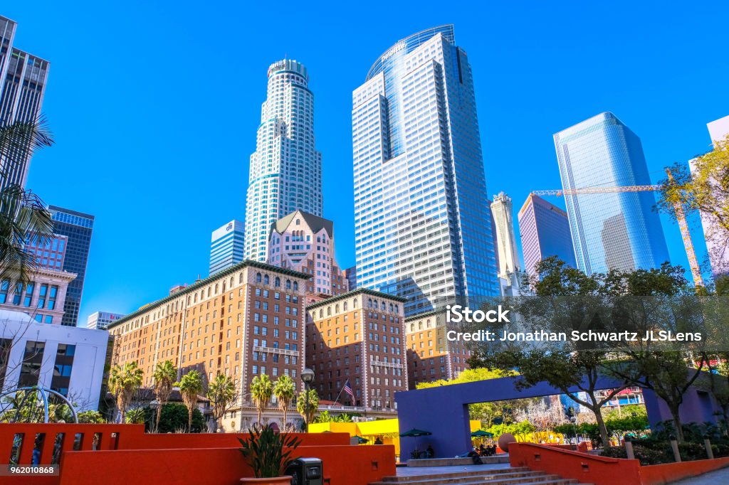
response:
M165 360L181 374L200 371L206 382L226 374L243 390L241 406L259 374L274 381L288 375L299 390L308 279L254 261L224 269L111 323L112 363L136 360L143 387L153 385L155 366Z

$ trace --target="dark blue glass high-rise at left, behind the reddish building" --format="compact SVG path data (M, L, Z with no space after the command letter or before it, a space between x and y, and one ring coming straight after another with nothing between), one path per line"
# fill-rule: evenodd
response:
M63 259L63 270L77 274L76 279L69 283L66 292L66 302L63 304L65 313L61 324L76 326L81 307L81 293L84 290L86 264L89 259L93 216L55 205L49 205L48 210L53 219L53 232L69 237L66 257Z

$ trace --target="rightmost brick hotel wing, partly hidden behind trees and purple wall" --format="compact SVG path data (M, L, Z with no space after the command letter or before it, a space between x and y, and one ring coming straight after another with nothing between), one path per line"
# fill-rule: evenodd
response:
M445 312L435 311L405 319L408 348L408 386L415 389L421 382L456 379L469 368L470 352L463 342L446 338Z

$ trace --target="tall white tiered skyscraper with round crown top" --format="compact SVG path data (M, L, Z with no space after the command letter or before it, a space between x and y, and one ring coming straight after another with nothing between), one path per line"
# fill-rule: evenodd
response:
M322 216L321 153L308 82L306 68L295 60L268 68L246 197L246 259L266 261L270 226L286 214L300 209Z

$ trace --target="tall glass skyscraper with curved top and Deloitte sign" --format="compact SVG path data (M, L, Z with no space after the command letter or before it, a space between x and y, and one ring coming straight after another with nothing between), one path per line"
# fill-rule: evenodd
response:
M471 68L453 25L398 41L352 95L360 287L405 315L499 294Z

